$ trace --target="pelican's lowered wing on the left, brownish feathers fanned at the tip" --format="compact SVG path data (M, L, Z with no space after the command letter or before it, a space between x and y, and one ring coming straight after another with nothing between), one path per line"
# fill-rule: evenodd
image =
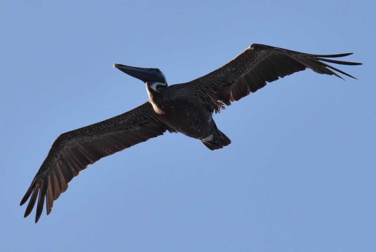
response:
M31 195L24 217L33 210L38 194L35 223L42 214L44 199L49 215L53 201L67 190L72 178L89 164L160 136L166 130L167 126L158 118L152 105L146 102L121 115L61 134L21 200L20 205L23 205Z

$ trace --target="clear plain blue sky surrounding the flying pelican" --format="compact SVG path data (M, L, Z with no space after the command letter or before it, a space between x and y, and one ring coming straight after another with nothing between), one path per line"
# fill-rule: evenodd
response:
M376 251L374 1L5 1L0 251ZM302 71L214 119L210 151L165 133L74 178L50 216L19 203L56 137L133 109L144 84L205 75L252 43L354 54L355 80Z

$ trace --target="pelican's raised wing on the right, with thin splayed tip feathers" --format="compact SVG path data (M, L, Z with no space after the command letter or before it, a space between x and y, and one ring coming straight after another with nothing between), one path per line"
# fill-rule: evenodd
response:
M182 85L190 89L190 92L195 92L200 96L212 112L219 112L224 108L224 104L229 106L231 102L238 101L263 88L267 82L278 80L279 77L283 78L306 68L319 74L335 75L342 78L334 72L337 71L355 78L324 63L362 65L362 63L325 59L344 57L350 54L352 53L307 54L268 45L252 44L226 65Z

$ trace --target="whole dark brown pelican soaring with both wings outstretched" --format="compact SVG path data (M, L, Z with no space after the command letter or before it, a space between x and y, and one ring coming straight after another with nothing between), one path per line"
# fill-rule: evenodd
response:
M199 139L211 150L223 148L231 141L218 130L212 119L213 112L257 91L267 82L306 68L342 78L334 72L337 71L354 78L324 63L361 65L327 59L350 54L306 54L253 44L217 70L172 86L167 85L159 69L114 64L115 68L146 83L149 100L121 115L61 134L21 200L20 205L23 205L31 196L24 217L32 211L38 194L35 223L42 214L44 200L48 215L53 202L67 190L72 178L89 164L162 135L166 130Z

